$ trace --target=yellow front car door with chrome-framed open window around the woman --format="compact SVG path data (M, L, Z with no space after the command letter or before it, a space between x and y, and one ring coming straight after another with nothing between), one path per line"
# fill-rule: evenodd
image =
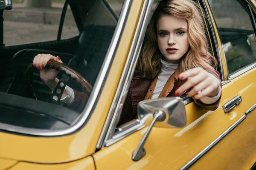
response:
M231 130L236 130L237 128L240 130L240 127L245 123L244 119L246 115L244 112L255 103L247 95L253 93L254 84L249 79L255 76L255 72L253 72L253 69L243 67L241 69L246 69L247 71L244 70L240 77L231 78L231 75L227 74L226 59L222 51L221 39L214 25L215 22L209 10L209 4L201 0L196 2L200 3L201 11L207 13L205 19L209 21L209 23L206 23L209 42L213 54L219 62L217 69L220 71L223 84L220 105L215 111L207 111L199 108L191 99L186 99L184 101L187 116L186 126L177 129L154 127L144 145L146 151L145 156L138 161L132 160L134 150L138 147L148 127L141 125L138 120L133 120L116 128L114 122L122 110L125 91L127 91L127 87L131 81L136 57L139 53L137 49L140 49L141 44L135 42L141 43L145 34L145 23L147 23L149 15L148 9L151 9L151 6L148 4L152 3L152 1L144 0L140 20L137 23L137 31L135 32L137 36L134 36L134 44L131 45L131 51L133 52L130 51L130 55L128 56L127 67L125 67L121 78L123 82L119 83L119 91L116 93L116 98L113 101L108 119L106 120L105 128L99 139L97 145L99 151L93 154L98 170L172 170L188 169L189 167L201 169L205 167L206 163L205 161L202 163L200 159L204 159L208 155L207 161L211 161L212 164L218 163L219 157L212 157L209 150L218 147L217 143L223 140L225 136L229 136L230 134L228 133ZM242 98L242 102L239 96ZM234 103L232 99L235 101ZM222 106L226 107L227 113L224 112ZM233 109L228 110L230 107L233 107ZM229 150L236 149L235 145L232 142L230 143L226 148ZM221 154L225 157L229 153L221 152ZM229 162L225 161L222 161L222 163L222 165L229 164ZM214 166L207 167L207 169L211 168L214 168Z

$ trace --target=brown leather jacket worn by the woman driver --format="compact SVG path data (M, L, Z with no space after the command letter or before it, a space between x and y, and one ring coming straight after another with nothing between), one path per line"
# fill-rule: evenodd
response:
M206 71L220 79L220 74L218 73L218 71L214 69L206 69ZM175 96L175 91L177 90L177 88L179 88L185 82L178 79L178 75L179 71L178 69L176 69L172 76L167 80L166 85L164 86L162 92L159 95L159 98ZM138 68L135 69L134 76L131 80L131 85L125 99L118 125L122 125L137 117L138 103L145 99L151 99L156 82L157 77L155 77L153 80L146 79L143 77L143 73ZM73 105L71 105L71 108L75 108L75 105L86 104L88 100L87 94L78 92L76 90L74 90L74 94L75 100ZM200 100L195 100L195 103L201 108L214 111L216 108L218 108L219 100L210 105L204 104Z

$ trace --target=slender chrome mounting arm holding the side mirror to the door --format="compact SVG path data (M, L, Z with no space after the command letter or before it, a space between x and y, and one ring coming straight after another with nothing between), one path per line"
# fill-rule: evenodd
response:
M166 119L166 113L161 111L161 110L157 110L154 112L154 119L151 122L151 124L148 127L148 130L146 131L146 133L144 134L143 138L140 141L139 146L137 147L137 149L134 151L133 155L132 155L132 160L134 161L138 161L140 160L143 156L145 156L146 151L144 149L144 144L146 142L146 140L148 139L148 135L152 130L152 127L154 127L155 122L162 122Z

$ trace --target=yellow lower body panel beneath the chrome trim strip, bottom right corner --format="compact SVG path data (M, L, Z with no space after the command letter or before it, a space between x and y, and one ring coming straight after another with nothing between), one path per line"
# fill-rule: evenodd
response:
M251 114L256 114L256 111ZM191 170L249 170L256 160L255 136L255 116L249 115L195 163Z

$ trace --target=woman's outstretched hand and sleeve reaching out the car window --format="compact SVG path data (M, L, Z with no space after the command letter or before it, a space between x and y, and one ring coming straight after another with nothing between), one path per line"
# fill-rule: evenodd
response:
M201 108L211 111L218 108L222 87L218 71L193 68L181 73L179 79L186 82L175 91L176 96L190 89L187 96L192 97Z

